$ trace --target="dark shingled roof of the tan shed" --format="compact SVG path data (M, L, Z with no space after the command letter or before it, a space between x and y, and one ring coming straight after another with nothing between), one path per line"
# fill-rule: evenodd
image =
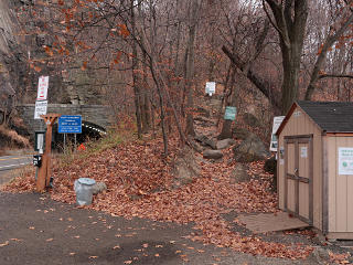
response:
M299 106L323 131L353 132L353 103L351 102L308 102L293 103L281 126L280 134L295 107Z

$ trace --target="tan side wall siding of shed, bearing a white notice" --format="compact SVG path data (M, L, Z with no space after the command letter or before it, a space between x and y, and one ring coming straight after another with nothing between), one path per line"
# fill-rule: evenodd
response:
M329 232L353 232L353 174L339 174L339 148L353 148L353 137L328 137Z

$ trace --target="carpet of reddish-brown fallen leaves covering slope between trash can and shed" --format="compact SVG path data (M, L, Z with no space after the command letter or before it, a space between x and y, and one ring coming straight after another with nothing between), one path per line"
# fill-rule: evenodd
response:
M250 163L249 174L257 176L250 182L233 183L233 163L203 163L200 178L178 190L170 189L173 177L172 161L176 153L176 140L170 142L171 153L162 158L162 140L128 142L106 150L97 157L79 160L66 168L53 169L52 198L75 203L74 181L94 178L104 181L108 190L95 197L90 209L105 211L127 219L133 216L178 223L195 223L197 232L193 241L232 247L235 251L269 257L306 258L312 248L302 245L285 245L264 242L256 236L242 236L233 232L222 214L236 212L275 212L276 194L268 192L269 174L263 163ZM229 161L231 150L224 151ZM259 177L259 178L258 178ZM33 190L34 181L15 181L7 190ZM23 187L22 187L23 186ZM158 191L160 190L160 191ZM200 232L199 232L200 231Z

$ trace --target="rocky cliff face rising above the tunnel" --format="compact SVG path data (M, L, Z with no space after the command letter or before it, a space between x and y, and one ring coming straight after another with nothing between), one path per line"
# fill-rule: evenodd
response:
M40 75L50 76L50 103L103 104L100 87L94 85L95 73L79 71L78 62L64 66L47 61L40 71L30 67L30 59L47 59L43 45L51 47L53 42L53 36L43 30L43 21L25 17L25 10L35 8L34 2L0 0L0 116L11 110L14 100L34 103ZM19 10L21 14L17 19ZM36 35L33 32L41 33Z

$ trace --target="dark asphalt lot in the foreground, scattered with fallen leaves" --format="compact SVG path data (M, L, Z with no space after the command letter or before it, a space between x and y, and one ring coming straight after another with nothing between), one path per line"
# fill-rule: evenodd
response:
M1 265L311 265L253 256L185 239L193 224L126 220L52 201L0 192ZM194 234L195 235L195 234Z

